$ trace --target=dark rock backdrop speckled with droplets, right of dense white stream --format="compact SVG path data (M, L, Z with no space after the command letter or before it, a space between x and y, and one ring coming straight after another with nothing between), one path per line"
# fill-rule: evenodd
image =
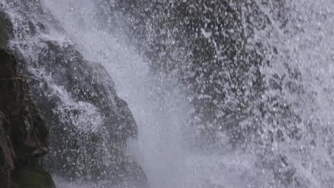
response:
M151 67L176 76L187 88L193 104L190 123L201 130L198 145L213 144L221 132L228 132L232 145L247 142L243 133L252 134L260 127L254 125L258 122L243 122L251 122L249 117L257 116L260 105L268 103L262 101L267 83L261 68L263 51L272 50L265 48L263 41L253 41L256 30L271 24L257 2L144 2L149 8L136 1L115 1L110 6L112 13L123 15L126 31L136 38ZM274 1L269 9L280 7L273 11L288 12L288 6L288 2ZM275 20L284 25L285 16ZM278 87L283 85L278 83ZM270 103L281 103L279 100Z

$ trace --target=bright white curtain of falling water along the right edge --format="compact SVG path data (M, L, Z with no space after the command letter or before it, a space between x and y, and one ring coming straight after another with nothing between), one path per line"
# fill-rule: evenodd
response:
M303 119L299 125L303 139L278 145L278 150L290 158L301 177L308 179L309 187L333 187L334 1L300 0L292 5L287 32L263 36L266 45L278 48L277 56L267 57L273 67L263 69L265 75L282 73L283 63L288 63L298 68L303 85L303 94L282 93L289 103L296 104L294 110ZM312 140L315 146L310 144Z

